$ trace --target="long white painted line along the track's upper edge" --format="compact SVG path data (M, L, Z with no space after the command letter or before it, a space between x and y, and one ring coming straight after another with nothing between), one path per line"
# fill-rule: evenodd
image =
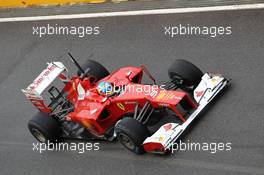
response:
M242 4L242 5L138 10L138 11L121 11L121 12L102 12L102 13L86 13L86 14L51 15L51 16L10 17L10 18L0 18L0 22L100 18L100 17L114 17L114 16L158 15L158 14L174 14L174 13L263 9L263 8L264 8L264 3L260 3L260 4Z

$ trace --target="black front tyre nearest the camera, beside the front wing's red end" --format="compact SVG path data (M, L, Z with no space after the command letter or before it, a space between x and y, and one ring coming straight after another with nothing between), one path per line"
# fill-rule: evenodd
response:
M143 154L145 151L142 143L149 136L148 129L139 121L133 118L124 118L115 127L117 138L128 150Z

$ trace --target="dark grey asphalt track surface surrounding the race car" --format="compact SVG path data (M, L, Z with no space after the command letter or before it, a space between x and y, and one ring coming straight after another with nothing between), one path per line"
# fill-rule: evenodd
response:
M98 25L101 33L86 38L32 35L32 26L47 23ZM164 35L164 26L179 23L232 26L232 35ZM0 174L264 174L263 28L263 10L1 23ZM109 70L145 64L159 81L167 80L167 68L176 58L232 78L231 86L183 138L185 142L231 142L232 150L137 156L119 143L101 142L100 151L84 154L32 151L35 140L28 132L27 121L37 110L20 89L47 61L63 61L73 72L75 67L67 59L67 51L81 63L96 59Z

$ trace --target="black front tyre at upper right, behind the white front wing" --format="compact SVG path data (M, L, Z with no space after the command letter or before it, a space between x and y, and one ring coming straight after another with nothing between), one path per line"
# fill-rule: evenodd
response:
M203 76L203 72L194 64L186 60L175 60L168 70L170 79L180 80L187 87L196 87Z

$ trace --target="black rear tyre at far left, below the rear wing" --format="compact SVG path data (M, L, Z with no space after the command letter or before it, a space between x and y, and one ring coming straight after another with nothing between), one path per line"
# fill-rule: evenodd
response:
M43 113L38 113L28 122L30 133L42 143L57 142L61 136L61 127L57 120Z

